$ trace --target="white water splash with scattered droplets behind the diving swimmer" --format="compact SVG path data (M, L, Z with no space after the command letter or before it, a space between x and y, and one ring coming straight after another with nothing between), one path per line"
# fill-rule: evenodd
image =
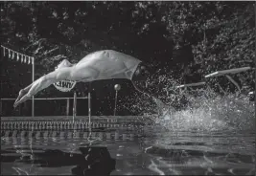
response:
M161 76L148 82L159 99L135 93L129 108L136 113L154 116L154 121L171 131L255 130L254 103L246 96L221 96L210 87L186 91L175 89L179 83ZM161 99L161 100L160 100Z

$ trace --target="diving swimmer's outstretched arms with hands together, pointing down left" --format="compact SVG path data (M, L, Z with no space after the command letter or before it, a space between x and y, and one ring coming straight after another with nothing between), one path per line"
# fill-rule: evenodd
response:
M43 77L38 78L37 80L35 80L35 82L33 82L31 85L29 85L28 87L25 88L29 89L29 91L27 92L27 94L25 94L21 99L17 99L14 102L14 107L16 107L18 104L31 99L33 96L35 96L36 93L38 93L39 91L49 87L51 84L58 82L58 80L63 79L64 77L59 77L57 72L52 72L48 75L45 75Z

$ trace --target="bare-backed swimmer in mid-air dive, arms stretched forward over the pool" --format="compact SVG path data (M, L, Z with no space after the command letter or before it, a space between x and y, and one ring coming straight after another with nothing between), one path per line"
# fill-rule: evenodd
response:
M39 91L47 88L60 80L73 80L92 82L94 80L126 78L131 80L137 91L151 97L156 103L159 99L152 96L151 92L144 88L138 88L134 83L144 80L146 83L150 72L141 60L112 50L104 50L84 56L77 64L71 64L67 59L62 60L56 70L36 79L31 85L19 91L18 98L13 107L31 99Z

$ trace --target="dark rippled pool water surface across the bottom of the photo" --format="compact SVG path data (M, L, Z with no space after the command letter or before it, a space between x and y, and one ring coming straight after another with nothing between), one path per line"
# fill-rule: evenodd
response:
M255 175L255 130L5 133L1 175Z

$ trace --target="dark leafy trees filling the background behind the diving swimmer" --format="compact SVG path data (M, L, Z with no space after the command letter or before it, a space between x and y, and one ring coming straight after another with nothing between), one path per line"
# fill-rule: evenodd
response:
M91 52L110 49L149 64L155 79L191 83L217 70L254 66L255 3L2 2L0 37L5 47L35 56L35 78L53 71L63 58L75 63ZM1 98L16 98L31 83L31 72L32 65L3 56L1 50ZM235 78L253 90L253 72ZM216 81L211 79L209 85ZM218 81L234 92L227 80ZM104 80L92 83L92 115L113 114L116 83L122 85L118 114L138 114L122 106L135 95L131 83ZM71 92L62 93L52 85L35 97L73 97L74 91L82 97L87 88L77 83ZM35 100L35 115L64 115L65 103ZM31 116L30 100L15 111L12 104L2 103L3 115ZM78 115L87 115L87 100L78 101Z

